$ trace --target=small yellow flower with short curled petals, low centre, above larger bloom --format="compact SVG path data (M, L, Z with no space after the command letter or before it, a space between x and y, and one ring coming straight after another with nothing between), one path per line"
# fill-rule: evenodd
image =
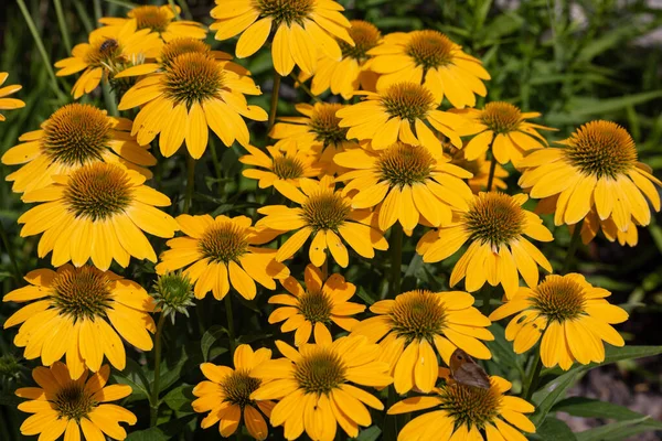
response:
M346 282L341 275L332 275L325 281L322 272L314 266L306 267L306 289L293 277L282 280L282 287L289 294L271 295L269 303L282 304L269 315L269 323L285 321L281 332L297 331L295 345L308 343L310 334L323 334L331 340L328 325L335 323L345 331L352 331L359 321L352 315L365 311L365 306L349 302L356 292L353 283Z

